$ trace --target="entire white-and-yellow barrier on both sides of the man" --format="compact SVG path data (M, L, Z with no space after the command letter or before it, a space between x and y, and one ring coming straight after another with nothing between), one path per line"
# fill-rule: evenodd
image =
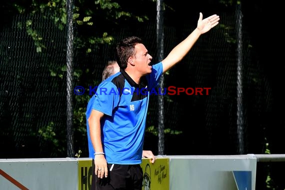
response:
M256 157L247 155L158 155L143 158L142 190L254 190ZM91 158L0 159L0 189L89 190Z

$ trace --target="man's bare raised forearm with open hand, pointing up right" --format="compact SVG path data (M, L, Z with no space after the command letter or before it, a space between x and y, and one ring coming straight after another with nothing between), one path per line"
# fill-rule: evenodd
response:
M199 36L209 31L212 27L216 26L219 20L219 16L216 14L213 14L204 19L202 18L203 18L203 15L200 12L197 27L183 41L181 41L178 45L176 45L170 51L170 53L162 60L163 72L167 71L169 68L174 66L176 63L180 62L180 60L192 48L192 46L197 41Z

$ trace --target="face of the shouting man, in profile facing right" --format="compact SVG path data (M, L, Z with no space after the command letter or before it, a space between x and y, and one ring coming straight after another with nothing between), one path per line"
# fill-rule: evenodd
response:
M142 43L135 45L135 51L136 53L133 58L136 70L142 75L150 73L152 68L150 66L152 56L148 54L147 49Z

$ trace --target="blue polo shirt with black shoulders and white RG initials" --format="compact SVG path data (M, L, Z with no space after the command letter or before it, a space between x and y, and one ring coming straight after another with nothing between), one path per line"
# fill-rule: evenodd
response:
M86 119L91 110L104 113L101 119L101 141L107 163L140 164L147 115L149 91L158 85L162 63L152 65L150 74L136 84L124 71L102 81L88 102ZM87 124L89 157L94 148Z

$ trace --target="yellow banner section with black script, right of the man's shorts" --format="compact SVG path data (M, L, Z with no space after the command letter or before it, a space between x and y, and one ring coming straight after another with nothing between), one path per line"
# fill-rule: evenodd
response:
M143 158L140 165L143 172L142 190L169 189L169 158L156 158L154 163Z

